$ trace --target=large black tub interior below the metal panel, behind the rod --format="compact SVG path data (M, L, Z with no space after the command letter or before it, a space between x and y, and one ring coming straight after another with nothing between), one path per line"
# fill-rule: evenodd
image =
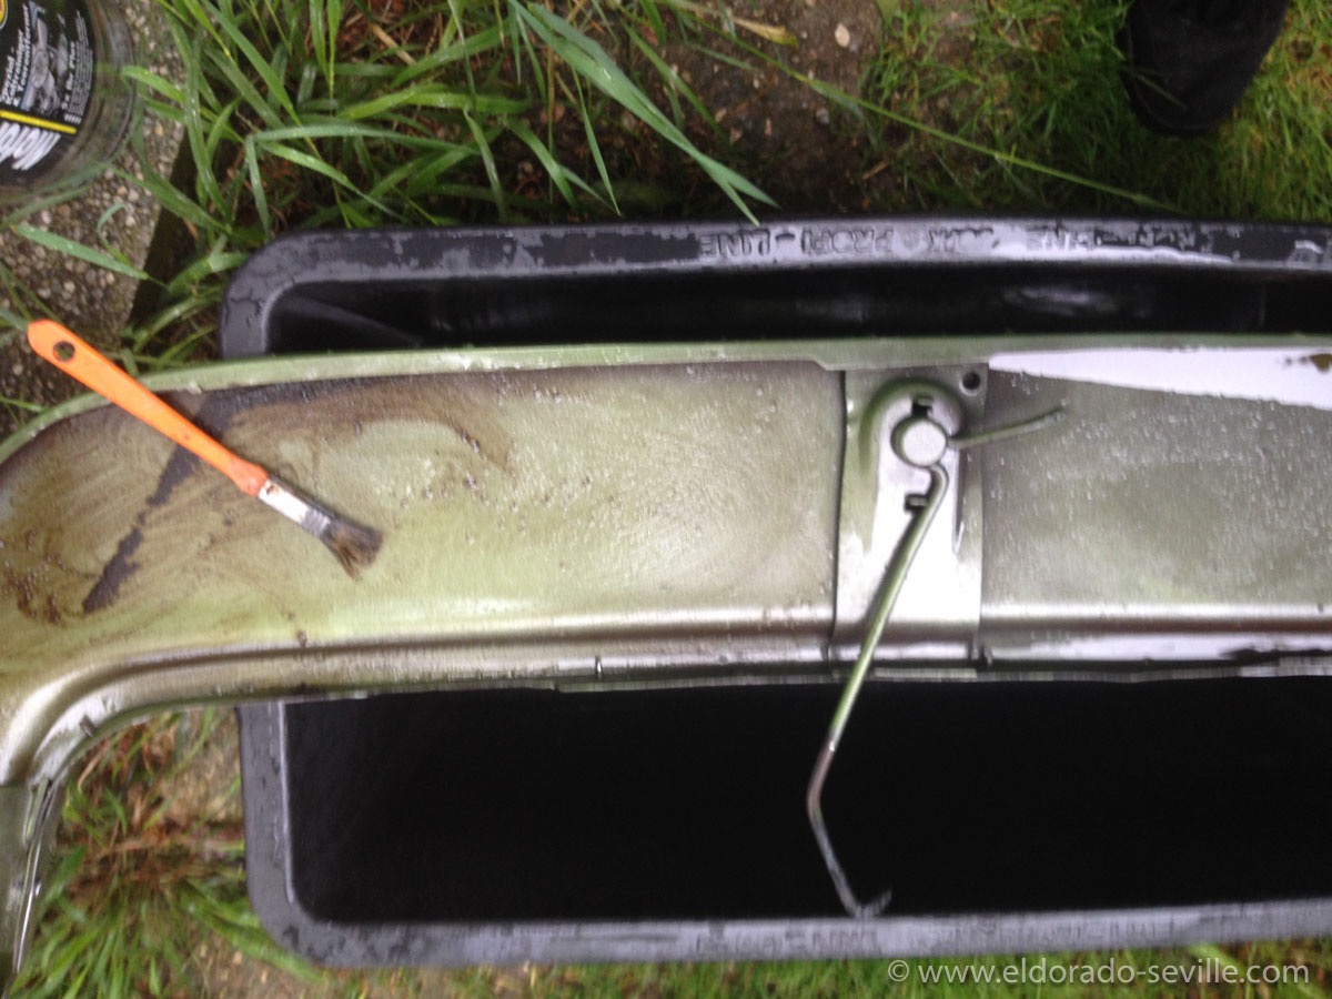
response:
M285 707L292 884L329 920L840 912L805 815L838 690ZM1332 682L871 685L826 793L895 914L1332 894Z

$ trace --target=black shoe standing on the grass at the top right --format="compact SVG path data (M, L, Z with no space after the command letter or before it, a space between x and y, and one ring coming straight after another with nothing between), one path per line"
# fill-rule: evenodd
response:
M1221 124L1281 32L1285 7L1287 0L1135 0L1119 44L1139 120L1181 136Z

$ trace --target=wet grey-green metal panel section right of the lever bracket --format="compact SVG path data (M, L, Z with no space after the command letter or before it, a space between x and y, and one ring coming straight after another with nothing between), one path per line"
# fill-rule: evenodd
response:
M1151 634L1152 658L1328 647L1332 412L999 373L990 401L1067 405L980 456L994 654L1131 657Z

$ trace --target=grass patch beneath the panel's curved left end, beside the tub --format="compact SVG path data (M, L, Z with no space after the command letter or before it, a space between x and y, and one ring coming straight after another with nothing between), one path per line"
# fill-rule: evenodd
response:
M67 791L41 934L19 995L178 994L202 927L312 975L262 936L245 904L238 823L172 811L169 789L214 718L164 717L84 761Z

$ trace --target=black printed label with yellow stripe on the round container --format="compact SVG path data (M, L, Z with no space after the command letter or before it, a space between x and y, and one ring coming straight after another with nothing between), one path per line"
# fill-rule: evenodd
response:
M0 184L31 184L88 113L96 52L80 0L0 0Z

